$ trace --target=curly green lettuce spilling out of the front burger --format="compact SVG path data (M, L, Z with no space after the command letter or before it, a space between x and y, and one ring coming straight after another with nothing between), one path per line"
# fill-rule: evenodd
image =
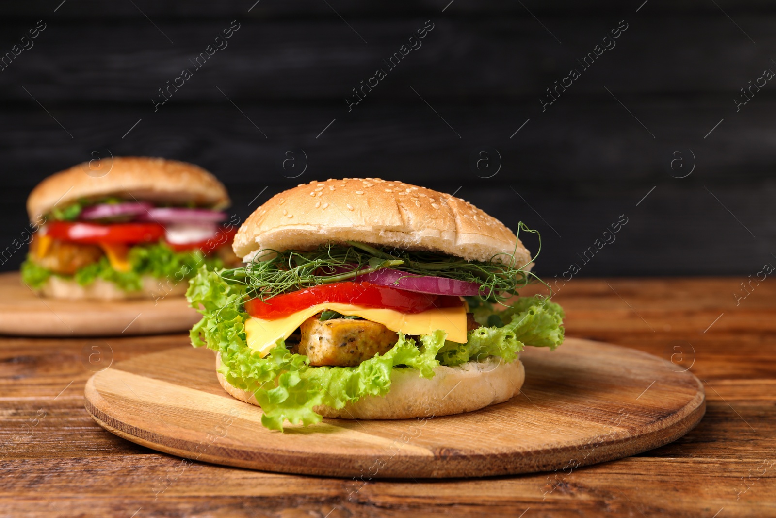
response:
M307 356L290 353L283 340L264 358L248 347L244 326L248 313L243 308L247 290L242 283L224 280L220 272L200 268L186 292L189 304L203 315L190 337L193 346L220 354L219 371L230 384L255 395L268 429L282 431L286 420L304 426L320 422L314 411L317 405L343 408L365 396L386 395L397 368L414 368L431 378L439 365L486 356L512 361L525 345L554 349L563 341L563 310L558 304L526 298L501 312L501 318L510 319L507 325L469 332L466 344L446 341L441 330L420 336L419 342L399 333L392 349L357 367L311 367Z

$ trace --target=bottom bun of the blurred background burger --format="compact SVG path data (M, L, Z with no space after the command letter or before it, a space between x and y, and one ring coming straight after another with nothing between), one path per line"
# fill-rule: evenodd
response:
M165 298L168 296L181 297L186 293L189 283L168 282L167 286L161 280L152 276L142 276L143 289L140 291L124 291L116 284L107 280L96 279L86 286L81 286L74 280L50 276L42 287L35 290L36 294L43 297L68 300L94 300L94 301L120 301L139 298Z

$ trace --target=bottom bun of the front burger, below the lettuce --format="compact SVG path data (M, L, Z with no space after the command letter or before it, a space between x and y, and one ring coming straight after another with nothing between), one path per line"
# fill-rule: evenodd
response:
M221 365L216 355L216 368ZM251 392L233 387L217 372L218 381L232 397L258 405ZM366 396L336 410L315 407L324 417L341 419L411 419L431 415L451 415L471 412L488 405L502 403L518 395L525 381L525 369L520 360L504 363L500 358L484 362L469 362L457 367L440 365L434 377L421 377L416 369L393 371L390 391L384 396Z

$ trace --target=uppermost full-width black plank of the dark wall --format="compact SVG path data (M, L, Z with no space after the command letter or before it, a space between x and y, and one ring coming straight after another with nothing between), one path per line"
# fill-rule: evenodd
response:
M326 4L324 9L329 9ZM615 40L615 47L606 50L588 69L580 65L577 60L592 52L623 18L628 20L629 28ZM532 16L449 19L436 13L407 13L402 18L354 21L369 44L336 15L274 22L241 16L237 19L240 30L199 70L189 60L193 61L229 27L231 19L168 24L164 31L175 45L142 16L133 23L93 25L90 36L102 42L96 52L90 40L68 38L81 27L82 19L50 21L29 55L24 51L0 74L0 96L6 103L34 103L16 86L21 82L33 89L30 92L44 106L88 100L150 107L150 99L159 95L158 88L164 89L168 79L172 82L183 69L189 69L194 77L172 96L178 102L227 102L218 86L238 106L280 99L337 99L345 106L344 99L353 95L352 88L359 88L362 79L366 81L382 68L388 78L369 96L417 99L405 85L408 82L426 99L466 99L472 110L484 99L508 101L522 96L528 96L531 106L539 109L539 97L546 96L545 89L575 68L582 77L561 94L561 99L608 96L601 87L604 82L618 93L719 92L725 105L734 108L731 99L749 79L760 77L768 68L771 62L767 48L776 44L771 30L776 22L773 14L742 15L738 19L757 45L746 37L709 38L710 33L731 32L732 24L722 12L713 17L696 16L694 23L682 18L633 19L614 14L582 19L556 17L550 25L563 45ZM396 68L386 65L383 60L397 52L428 19L435 26L421 41L421 47L412 50ZM19 27L19 37L25 30ZM15 32L4 31L0 48L16 43ZM223 47L224 43L220 44ZM677 47L681 51L676 51ZM236 81L227 81L234 75ZM772 97L765 91L758 95Z

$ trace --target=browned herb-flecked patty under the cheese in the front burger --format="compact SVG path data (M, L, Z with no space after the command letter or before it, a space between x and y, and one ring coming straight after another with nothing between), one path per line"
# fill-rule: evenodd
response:
M320 322L319 317L300 325L299 353L316 367L355 367L378 353L387 353L399 339L396 332L377 322L353 318Z

